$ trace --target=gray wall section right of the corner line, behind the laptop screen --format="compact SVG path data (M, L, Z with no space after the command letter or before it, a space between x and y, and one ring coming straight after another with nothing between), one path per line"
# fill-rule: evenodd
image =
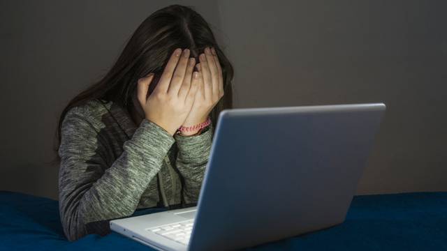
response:
M447 190L447 1L219 1L219 9L238 106L385 102L358 193Z

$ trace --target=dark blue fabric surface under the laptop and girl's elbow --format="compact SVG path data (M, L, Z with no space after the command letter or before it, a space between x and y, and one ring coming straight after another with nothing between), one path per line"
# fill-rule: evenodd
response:
M69 242L57 206L0 192L0 250L152 250L116 233ZM356 196L342 225L246 250L447 250L447 192Z

